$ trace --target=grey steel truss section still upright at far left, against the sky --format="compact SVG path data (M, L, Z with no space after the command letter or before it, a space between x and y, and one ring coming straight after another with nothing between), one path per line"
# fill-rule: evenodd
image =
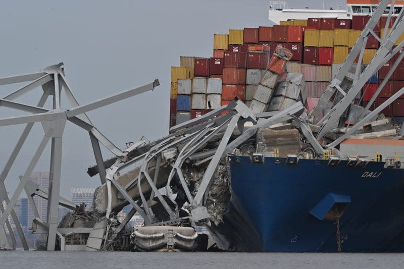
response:
M119 92L117 94L112 94L105 98L98 99L93 102L89 102L84 105L79 105L77 100L75 99L65 77L64 70L62 68L63 63L58 65L49 66L37 73L31 73L27 75L20 76L12 76L6 78L0 78L0 85L5 84L13 84L19 82L32 81L28 85L6 95L5 97L0 99L0 106L9 107L11 109L17 109L29 113L33 113L32 115L24 115L12 118L0 119L0 126L8 126L15 124L23 124L26 123L26 127L20 136L17 145L15 146L12 154L10 155L8 162L6 163L5 168L0 174L0 202L6 201L7 206L4 208L4 212L2 213L2 217L0 217L0 246L9 246L4 225L8 224L8 217L11 214L14 222L16 224L17 231L20 234L20 237L23 242L24 249L27 250L28 246L26 244L24 235L22 233L21 226L18 222L17 217L14 212L14 205L21 194L21 191L25 189L27 192L28 200L31 206L34 209L35 217L37 221L42 223L39 219L39 214L36 210L36 206L34 200L32 199L32 195L40 195L48 199L48 210L47 210L47 219L46 223L46 233L47 233L47 249L54 250L55 249L55 240L56 235L59 233L57 231L57 221L58 221L58 207L59 204L66 206L68 208L72 208L74 204L63 197L60 196L60 174L61 174L61 165L62 165L62 139L63 139L63 131L66 124L66 120L71 121L72 123L78 125L84 130L88 131L90 134L90 141L93 146L94 156L97 162L98 171L100 172L101 181L105 181L105 167L102 162L102 155L99 149L99 142L105 145L111 152L113 152L116 156L125 157L128 152L123 152L121 149L116 147L111 141L109 141L102 133L100 133L91 123L89 118L85 115L86 112L95 110L99 107L120 101L122 99L143 93L145 91L153 90L154 87L159 85L159 81L155 80L152 83L147 85L125 90ZM42 86L43 94L36 106L19 103L13 101L15 98L20 97L32 89ZM64 110L61 108L61 91L65 90L67 98L72 105L72 109ZM47 96L53 95L53 109L47 110L42 108L45 103ZM4 181L7 179L10 169L12 168L15 159L21 150L27 136L29 135L32 126L35 122L40 122L44 136L41 143L38 146L30 164L28 165L24 175L20 178L20 183L12 195L12 198L9 199L7 196L7 191L4 187ZM46 191L42 190L38 192L36 187L29 187L32 182L28 180L28 177L31 175L37 160L42 154L46 144L49 140L52 140L51 146L51 165L50 165L50 175L49 175L49 189ZM104 171L104 172L103 172ZM33 190L34 189L34 190ZM111 198L111 197L110 197ZM3 210L2 210L3 211ZM9 228L10 230L10 228ZM12 237L12 231L10 233ZM63 241L63 238L61 238ZM13 240L14 241L14 240Z

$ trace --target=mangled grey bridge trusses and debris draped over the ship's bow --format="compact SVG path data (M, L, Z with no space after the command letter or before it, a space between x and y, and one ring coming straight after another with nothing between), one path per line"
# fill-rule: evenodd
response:
M348 138L401 140L404 134L402 126L381 114L384 107L404 93L404 88L375 110L369 110L383 83L391 76L404 53L398 56L393 69L368 105L362 107L354 103L369 78L404 46L404 42L401 42L395 48L392 47L404 28L401 11L394 27L380 40L378 52L366 69L361 73L361 65L353 64L357 56L362 59L367 38L372 34L374 24L387 4L388 1L380 4L345 63L314 107L304 106L306 94L302 74L289 73L286 81L278 82L278 76L283 72L291 52L277 48L250 107L235 98L228 105L172 127L166 137L152 142L140 139L123 150L113 146L100 133L95 132L96 136L93 137L91 134L94 132L90 132L93 146L95 144L97 164L90 167L87 173L90 176L98 174L102 185L95 191L89 212L82 206L78 207L74 213L65 217L57 229L52 230L59 237L61 249L73 249L72 246L80 246L77 248L86 250L204 249L201 247L204 240L198 239L193 229L189 228L196 224L207 226L217 245L223 249L271 251L274 248L260 245L267 238L263 238L254 221L246 218L251 217L251 213L244 212L243 201L235 200L230 163L243 163L244 159L248 159L250 163L264 164L266 158L273 158L276 164L285 162L295 165L299 160L318 160L319 164L326 162L325 166L337 166L340 162L346 162L347 166L357 168L364 168L368 163L383 163L385 169L402 171L399 157L393 151L365 155L359 150L352 154L351 150L353 148L355 151L355 146L347 149L341 144ZM158 83L152 83L147 89L153 89L156 85ZM2 100L2 104L10 103ZM75 105L78 105L77 102ZM83 118L75 118L77 115L85 116L83 113L91 108L84 107L82 109L79 106L76 113L66 112L67 119L94 131L90 128L88 118L84 118L84 123ZM32 107L30 112L33 112ZM98 141L114 153L112 158L103 160L97 150ZM390 156L389 153L394 155ZM249 179L244 180L248 185ZM21 182L24 186L28 181L24 179ZM38 191L33 186L28 195L38 195ZM319 214L317 209L313 209L310 212L320 220L328 218L338 221L342 210L350 203L350 197L330 195L334 197L332 199L336 199L326 207L331 211L326 210ZM43 196L47 197L47 194ZM260 198L262 197L257 197ZM72 207L61 197L52 201L55 202ZM260 203L257 201L257 204ZM318 208L323 203L320 201ZM132 209L123 221L118 221L117 214L128 204ZM9 205L14 204L10 202ZM334 209L335 213L332 211ZM341 210L340 213L338 209ZM9 206L6 212L11 212ZM128 226L136 212L144 219L144 228ZM2 226L7 221L7 213L5 216L0 219ZM51 226L38 218L34 222L34 233L50 233ZM250 232L240 232L246 230ZM4 243L1 232L0 243ZM200 243L195 243L198 240ZM290 241L294 243L293 240L297 239ZM340 247L339 226L338 242ZM304 250L315 251L303 247L296 251Z

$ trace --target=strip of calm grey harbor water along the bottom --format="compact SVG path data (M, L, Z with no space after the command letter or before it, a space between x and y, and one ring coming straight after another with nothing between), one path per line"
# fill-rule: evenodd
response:
M0 268L403 268L400 253L0 251Z

